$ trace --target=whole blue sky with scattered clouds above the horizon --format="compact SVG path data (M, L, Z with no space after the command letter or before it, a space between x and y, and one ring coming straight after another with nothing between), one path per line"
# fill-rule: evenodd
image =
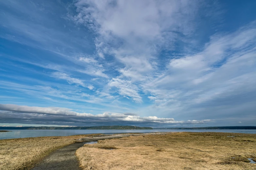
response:
M256 1L0 1L0 126L256 126Z

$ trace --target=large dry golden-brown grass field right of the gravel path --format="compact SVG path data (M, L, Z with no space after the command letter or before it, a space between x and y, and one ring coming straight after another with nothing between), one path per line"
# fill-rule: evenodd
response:
M101 140L86 144L76 154L84 170L256 169L256 164L247 162L247 158L256 158L256 134L182 132L144 136ZM116 149L101 149L104 146Z

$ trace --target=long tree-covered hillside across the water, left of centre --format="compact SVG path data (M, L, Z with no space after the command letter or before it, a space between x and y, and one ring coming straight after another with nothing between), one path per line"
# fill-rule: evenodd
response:
M132 130L153 129L151 127L138 126L77 126L77 127L55 127L55 126L26 126L26 127L0 127L1 130Z

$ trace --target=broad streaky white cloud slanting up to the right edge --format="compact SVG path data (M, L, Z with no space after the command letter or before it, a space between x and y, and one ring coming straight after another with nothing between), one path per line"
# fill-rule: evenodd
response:
M171 59L167 70L142 87L155 96L150 100L159 99L158 106L179 109L254 92L255 39L254 22L234 33L213 35L201 52Z

